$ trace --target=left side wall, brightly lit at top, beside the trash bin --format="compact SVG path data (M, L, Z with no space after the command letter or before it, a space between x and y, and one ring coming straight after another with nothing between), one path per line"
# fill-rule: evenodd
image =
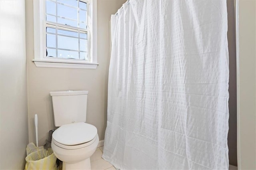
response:
M0 169L24 169L28 144L25 1L0 0Z

